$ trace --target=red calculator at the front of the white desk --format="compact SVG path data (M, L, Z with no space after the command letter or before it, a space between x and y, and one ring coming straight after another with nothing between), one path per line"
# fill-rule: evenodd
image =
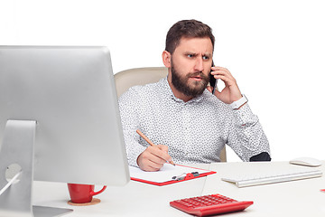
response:
M176 209L197 216L243 211L252 204L252 201L238 202L218 193L176 200L170 203Z

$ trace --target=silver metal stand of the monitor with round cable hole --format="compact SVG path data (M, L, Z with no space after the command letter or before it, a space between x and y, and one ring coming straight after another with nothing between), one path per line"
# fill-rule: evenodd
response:
M0 190L8 183L5 171L19 165L22 174L0 195L0 216L52 217L72 212L70 209L32 206L33 158L36 121L8 120L0 149Z

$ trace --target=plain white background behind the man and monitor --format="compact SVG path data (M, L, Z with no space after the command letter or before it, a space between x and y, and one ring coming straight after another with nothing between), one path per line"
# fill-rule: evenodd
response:
M321 0L0 0L0 44L105 45L116 73L163 66L168 29L195 18L213 29L214 61L232 72L249 99L273 160L325 159L324 5ZM228 161L239 161L229 148Z

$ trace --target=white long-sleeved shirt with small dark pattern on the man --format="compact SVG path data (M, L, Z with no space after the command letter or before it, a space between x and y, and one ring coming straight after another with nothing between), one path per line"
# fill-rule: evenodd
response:
M177 99L166 78L135 86L119 98L129 165L150 146L136 133L140 129L154 144L168 146L176 164L219 162L227 144L243 161L262 152L270 154L265 133L248 104L231 109L209 90L188 102Z

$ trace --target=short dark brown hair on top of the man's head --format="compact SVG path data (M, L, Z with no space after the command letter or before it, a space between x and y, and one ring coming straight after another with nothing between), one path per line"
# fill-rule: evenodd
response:
M207 24L203 24L197 20L182 20L173 24L166 36L165 51L174 52L180 44L181 38L205 38L209 37L214 48L215 37L212 29Z

